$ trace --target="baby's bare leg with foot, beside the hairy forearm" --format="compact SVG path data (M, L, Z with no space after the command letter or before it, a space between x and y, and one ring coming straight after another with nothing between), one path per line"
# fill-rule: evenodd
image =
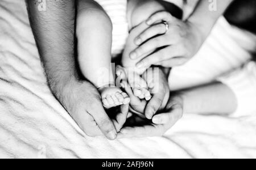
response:
M112 23L96 2L79 1L76 33L80 69L99 88L104 106L129 103L129 97L115 87L111 65Z

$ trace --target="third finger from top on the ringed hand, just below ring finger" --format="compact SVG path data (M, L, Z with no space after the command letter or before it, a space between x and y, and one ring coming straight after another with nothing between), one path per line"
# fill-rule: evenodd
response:
M144 54L148 54L150 52L154 52L155 49L158 49L162 46L170 45L167 41L166 37L164 35L155 37L154 39L151 39L141 46L139 46L137 49L135 49L133 52L130 53L131 59L138 59L144 56Z

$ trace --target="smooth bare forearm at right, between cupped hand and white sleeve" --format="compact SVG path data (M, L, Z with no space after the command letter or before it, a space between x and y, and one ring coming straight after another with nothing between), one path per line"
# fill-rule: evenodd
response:
M184 113L229 114L237 108L237 99L233 91L218 82L185 90L181 92L181 96Z

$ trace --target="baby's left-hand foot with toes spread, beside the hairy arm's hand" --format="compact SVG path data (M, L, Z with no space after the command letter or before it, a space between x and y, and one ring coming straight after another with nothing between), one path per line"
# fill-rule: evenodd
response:
M130 103L129 96L118 87L103 87L100 92L102 103L106 109Z

